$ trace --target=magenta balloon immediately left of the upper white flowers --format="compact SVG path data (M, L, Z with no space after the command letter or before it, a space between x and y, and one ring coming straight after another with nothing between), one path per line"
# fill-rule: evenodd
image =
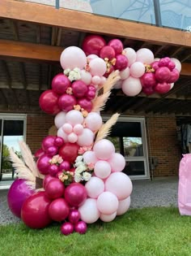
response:
M71 85L70 80L68 79L67 76L65 76L62 73L57 74L57 76L53 77L52 89L57 94L66 93L66 89L68 89L70 85Z

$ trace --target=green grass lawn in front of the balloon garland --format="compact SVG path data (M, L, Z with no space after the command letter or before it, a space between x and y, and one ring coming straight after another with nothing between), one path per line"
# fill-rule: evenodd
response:
M191 255L191 217L176 208L129 210L111 223L93 223L85 235L63 236L60 225L34 230L23 223L0 226L0 255Z

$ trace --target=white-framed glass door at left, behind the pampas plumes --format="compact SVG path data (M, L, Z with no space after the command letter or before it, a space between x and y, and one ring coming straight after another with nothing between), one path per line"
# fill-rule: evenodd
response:
M26 116L0 115L0 118L0 181L12 181L15 179L15 171L11 165L9 149L12 148L15 151L15 154L20 157L18 142L19 140L25 140Z

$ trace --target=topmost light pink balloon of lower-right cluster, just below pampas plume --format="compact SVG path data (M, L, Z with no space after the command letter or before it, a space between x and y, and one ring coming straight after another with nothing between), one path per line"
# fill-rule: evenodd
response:
M106 139L98 141L94 145L93 150L96 154L96 158L99 158L100 160L107 160L108 158L111 158L113 153L115 153L114 145L111 141Z

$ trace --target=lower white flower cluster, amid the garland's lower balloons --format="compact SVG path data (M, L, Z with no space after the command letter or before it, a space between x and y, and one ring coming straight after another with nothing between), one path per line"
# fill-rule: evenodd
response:
M74 172L75 182L90 180L91 173L87 171L86 163L83 163L83 156L78 156L78 158L76 158L74 167L77 167Z

